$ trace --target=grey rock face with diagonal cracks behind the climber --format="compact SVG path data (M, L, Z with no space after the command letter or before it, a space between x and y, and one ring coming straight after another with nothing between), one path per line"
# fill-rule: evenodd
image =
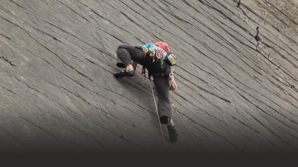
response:
M238 6L238 7L237 7ZM298 0L1 0L3 152L298 150ZM258 27L258 29L257 29ZM178 55L178 142L120 44Z

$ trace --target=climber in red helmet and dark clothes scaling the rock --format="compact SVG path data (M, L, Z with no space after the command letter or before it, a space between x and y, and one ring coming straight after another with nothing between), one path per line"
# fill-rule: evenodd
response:
M173 77L176 57L169 53L170 47L165 42L147 43L143 46L120 45L117 49L117 63L125 70L115 73L116 78L133 77L138 64L143 66L142 73L153 82L158 95L158 118L161 124L167 125L169 140L177 141L177 133L173 123L173 109L169 100L169 90L175 90L177 84ZM133 62L132 62L133 61Z

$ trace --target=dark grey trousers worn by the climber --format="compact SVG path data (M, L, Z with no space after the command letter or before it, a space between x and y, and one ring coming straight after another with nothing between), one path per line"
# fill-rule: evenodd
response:
M144 54L142 48L120 45L117 49L117 66L125 68L126 65L132 64L132 60L138 64L144 65ZM150 69L148 69L150 70ZM172 105L169 99L169 85L167 83L167 76L157 77L153 76L154 84L158 93L158 116L161 124L167 124L168 119L173 118Z

